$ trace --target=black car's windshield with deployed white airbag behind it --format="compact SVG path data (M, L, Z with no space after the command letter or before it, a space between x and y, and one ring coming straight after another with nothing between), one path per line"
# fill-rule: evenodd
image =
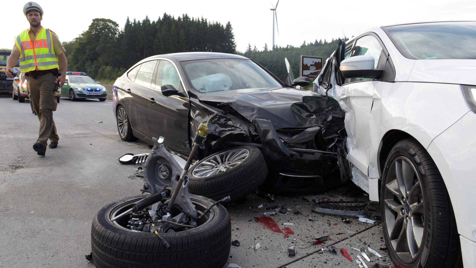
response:
M192 87L201 93L281 87L276 79L251 60L189 60L181 64Z

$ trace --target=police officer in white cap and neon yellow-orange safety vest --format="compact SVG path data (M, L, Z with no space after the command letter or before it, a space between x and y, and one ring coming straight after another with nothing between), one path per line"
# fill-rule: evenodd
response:
M35 2L23 7L23 14L30 22L30 29L24 30L15 38L10 57L7 59L7 77L12 78L13 67L20 57L20 72L26 73L30 101L38 119L40 131L33 149L44 156L48 139L50 148L58 146L58 133L53 121L53 111L58 105L56 90L63 86L68 63L58 36L41 26L43 10ZM61 71L60 70L61 67Z

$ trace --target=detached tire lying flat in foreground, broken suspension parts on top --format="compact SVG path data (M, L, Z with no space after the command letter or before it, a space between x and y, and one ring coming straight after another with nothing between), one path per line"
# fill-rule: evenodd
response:
M92 258L97 268L222 268L225 265L231 247L231 221L221 205L213 207L207 214L209 218L196 228L160 233L170 248L154 233L132 231L110 221L111 215L117 215L114 211L130 208L133 202L146 196L120 199L99 210L91 227ZM196 195L190 195L190 200L198 212L214 203ZM124 218L124 225L128 220Z

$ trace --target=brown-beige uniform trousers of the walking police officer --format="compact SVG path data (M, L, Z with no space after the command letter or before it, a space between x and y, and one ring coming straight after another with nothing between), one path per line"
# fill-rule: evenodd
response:
M53 111L56 111L58 106L55 80L56 77L52 73L41 75L38 79L27 77L30 102L40 119L40 131L36 142L44 146L48 145L48 139L50 142L58 142L60 139L53 121Z

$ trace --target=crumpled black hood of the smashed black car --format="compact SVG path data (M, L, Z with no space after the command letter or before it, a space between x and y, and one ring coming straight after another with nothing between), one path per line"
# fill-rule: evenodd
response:
M217 91L204 94L199 99L227 103L249 121L266 119L272 122L275 129L322 125L330 119L327 113L335 111L336 108L329 110L329 99L316 92L289 88L245 94L239 93L238 90Z

